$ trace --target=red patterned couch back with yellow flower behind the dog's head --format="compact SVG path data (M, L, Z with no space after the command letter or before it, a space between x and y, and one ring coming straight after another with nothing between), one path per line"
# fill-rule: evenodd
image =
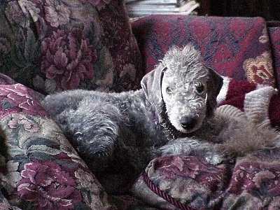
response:
M172 45L193 43L207 66L238 80L274 85L274 72L265 20L185 15L151 15L132 22L151 71Z

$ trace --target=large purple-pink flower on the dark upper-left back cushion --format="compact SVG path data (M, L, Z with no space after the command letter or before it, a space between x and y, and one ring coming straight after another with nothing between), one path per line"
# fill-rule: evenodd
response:
M75 89L80 80L92 78L96 50L84 37L83 31L71 29L53 32L41 45L42 71L48 79L54 79L63 90Z

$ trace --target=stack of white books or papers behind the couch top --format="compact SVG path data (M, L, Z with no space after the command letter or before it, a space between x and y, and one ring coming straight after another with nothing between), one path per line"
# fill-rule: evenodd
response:
M125 3L130 17L168 13L190 15L200 6L193 0L125 0Z

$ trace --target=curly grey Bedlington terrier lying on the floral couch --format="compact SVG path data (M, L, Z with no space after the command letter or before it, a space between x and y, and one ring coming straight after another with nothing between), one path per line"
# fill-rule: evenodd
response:
M94 174L110 171L133 179L160 155L197 155L218 164L254 149L229 146L230 139L240 144L260 134L242 120L214 115L222 85L200 52L186 45L171 48L141 80L141 90L69 90L42 104ZM224 141L231 143L223 146Z

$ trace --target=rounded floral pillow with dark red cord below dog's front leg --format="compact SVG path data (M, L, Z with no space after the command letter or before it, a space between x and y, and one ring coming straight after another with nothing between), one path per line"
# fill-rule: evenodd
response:
M155 158L132 186L132 193L162 209L211 209L207 202L214 202L225 188L227 171L226 165L215 167L193 156Z

